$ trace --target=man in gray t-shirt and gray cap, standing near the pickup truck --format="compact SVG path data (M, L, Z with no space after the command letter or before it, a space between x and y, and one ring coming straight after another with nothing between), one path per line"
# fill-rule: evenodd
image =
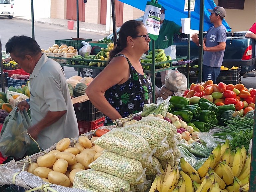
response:
M203 39L203 81L211 79L213 83L216 83L226 48L227 29L222 25L226 11L223 7L215 7L208 11L211 12L210 21L214 26L208 29ZM199 45L197 35L193 35L191 38L194 43Z

